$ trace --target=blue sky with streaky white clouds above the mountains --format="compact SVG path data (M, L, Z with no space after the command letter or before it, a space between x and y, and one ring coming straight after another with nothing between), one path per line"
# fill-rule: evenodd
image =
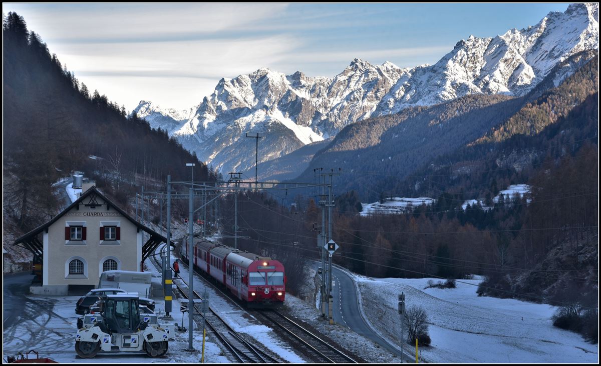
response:
M469 35L536 25L554 4L11 4L89 89L133 109L201 103L261 67L334 77L353 58L434 64Z

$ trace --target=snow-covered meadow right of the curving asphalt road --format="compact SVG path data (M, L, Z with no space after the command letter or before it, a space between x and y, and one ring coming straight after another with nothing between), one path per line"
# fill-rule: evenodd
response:
M555 328L556 307L477 295L478 280L457 281L456 289L425 289L432 278L356 276L365 314L389 340L400 344L398 294L406 307L420 305L429 317L430 347L421 347L427 362L593 362L599 346L573 332ZM523 320L522 320L523 317ZM414 353L415 347L406 350Z

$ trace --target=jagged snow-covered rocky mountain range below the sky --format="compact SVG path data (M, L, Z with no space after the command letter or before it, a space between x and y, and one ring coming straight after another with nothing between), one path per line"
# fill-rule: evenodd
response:
M269 151L262 156L272 159L370 116L467 94L524 95L566 58L599 49L598 19L598 4L572 4L521 30L493 38L470 34L433 65L400 68L390 61L378 65L354 58L333 78L264 67L219 80L191 113L148 101L141 101L136 112L153 127L176 134L201 160L235 170L249 164L241 138L246 131L266 134L261 143ZM593 54L585 53L587 59Z

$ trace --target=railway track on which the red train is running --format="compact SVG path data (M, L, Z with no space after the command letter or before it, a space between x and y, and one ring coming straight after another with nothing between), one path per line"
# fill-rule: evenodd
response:
M178 250L178 254L183 258L182 253ZM187 263L186 259L182 259L183 263ZM188 267L189 268L189 267ZM195 271L197 271L195 269ZM201 277L206 279L204 273L198 272ZM221 293L225 298L229 299L233 304L236 304L238 307L242 308L249 314L255 317L255 319L259 320L266 326L269 326L272 329L279 329L280 334L285 340L288 340L295 349L301 351L305 356L310 358L313 362L317 363L328 363L328 364L337 364L337 363L358 363L355 359L347 356L345 353L338 350L331 344L326 343L320 337L320 335L315 335L313 332L309 331L305 327L299 324L298 320L292 319L291 317L284 316L279 313L279 311L270 309L270 310L250 310L243 308L240 306L238 299L230 296L228 292L225 292L221 287L215 286L212 281L207 280L207 283L212 286L213 289Z

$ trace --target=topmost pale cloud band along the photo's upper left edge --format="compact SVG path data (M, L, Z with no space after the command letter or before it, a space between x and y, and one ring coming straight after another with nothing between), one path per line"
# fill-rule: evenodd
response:
M214 34L278 17L288 4L6 4L47 41ZM68 6L67 6L68 5ZM92 16L91 16L92 15Z

